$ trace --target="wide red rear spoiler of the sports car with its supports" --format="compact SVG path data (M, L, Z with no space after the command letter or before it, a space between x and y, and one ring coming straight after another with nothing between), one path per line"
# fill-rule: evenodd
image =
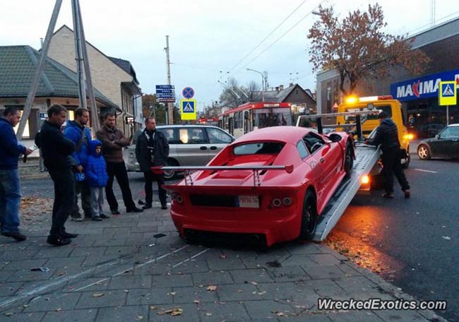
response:
M285 170L288 174L293 172L293 165L258 165L254 167L244 165L207 165L207 166L189 166L189 167L151 167L153 173L162 174L165 171L179 171L184 172L185 185L193 185L191 172L205 170L205 171L226 171L226 170L251 170L254 173L254 186L260 186L259 171L267 170Z

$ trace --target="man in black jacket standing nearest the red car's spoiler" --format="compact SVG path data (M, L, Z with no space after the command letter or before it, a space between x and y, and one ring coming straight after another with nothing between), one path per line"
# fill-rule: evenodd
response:
M153 117L145 119L145 130L139 134L136 141L136 158L145 178L145 205L143 209L152 207L153 180L157 182L161 209L167 209L167 194L162 185L165 184L164 174L153 174L150 167L167 165L169 143L160 131L156 131L156 120Z

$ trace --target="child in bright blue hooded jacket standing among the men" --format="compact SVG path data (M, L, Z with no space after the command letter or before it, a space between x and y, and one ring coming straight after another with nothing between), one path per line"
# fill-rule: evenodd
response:
M91 205L93 207L93 220L100 221L108 218L104 214L104 187L107 186L108 174L107 164L102 157L102 142L93 140L89 143L88 162L85 167L86 178L88 178L91 190Z

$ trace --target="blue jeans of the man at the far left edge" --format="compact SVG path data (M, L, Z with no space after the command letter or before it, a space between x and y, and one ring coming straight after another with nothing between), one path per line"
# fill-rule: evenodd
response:
M0 169L1 232L19 231L20 182L18 169Z

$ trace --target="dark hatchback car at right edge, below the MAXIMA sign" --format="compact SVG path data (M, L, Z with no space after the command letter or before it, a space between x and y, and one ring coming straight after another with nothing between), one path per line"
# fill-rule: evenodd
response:
M422 140L417 146L421 160L431 157L459 157L459 124L446 126L435 138Z

